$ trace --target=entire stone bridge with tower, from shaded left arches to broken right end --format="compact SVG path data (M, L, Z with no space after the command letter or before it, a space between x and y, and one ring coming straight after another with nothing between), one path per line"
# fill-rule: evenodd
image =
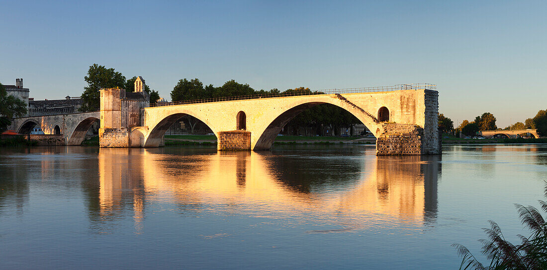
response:
M91 124L101 119L101 147L158 147L165 131L184 115L190 115L213 130L219 150L264 150L300 112L318 104L332 104L352 113L375 134L379 155L438 154L438 92L426 88L153 107L137 100L135 92L129 95L123 89L101 89L101 112L16 118L14 127L25 134L40 125L45 134L62 135L66 145L80 145Z

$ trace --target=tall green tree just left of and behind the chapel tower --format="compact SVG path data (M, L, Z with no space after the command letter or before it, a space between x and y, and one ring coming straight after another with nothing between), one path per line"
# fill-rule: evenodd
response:
M89 66L88 76L84 77L88 86L84 87L82 100L84 104L79 109L81 112L97 111L101 107L100 89L124 88L125 77L113 68L105 68L104 65L93 64Z

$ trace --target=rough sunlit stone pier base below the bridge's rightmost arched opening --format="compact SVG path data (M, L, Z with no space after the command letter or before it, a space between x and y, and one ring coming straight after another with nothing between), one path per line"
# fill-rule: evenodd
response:
M423 128L412 124L383 124L384 133L376 139L376 155L421 155Z

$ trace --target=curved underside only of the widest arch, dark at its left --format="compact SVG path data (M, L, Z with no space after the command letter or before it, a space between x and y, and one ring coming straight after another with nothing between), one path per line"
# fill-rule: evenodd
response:
M339 107L349 113L351 113L353 116L355 116L359 121L365 125L366 128L369 130L376 129L376 125L373 124L373 119L371 118L369 121L365 117L364 113L358 113L357 109L355 111L348 110L347 108L344 108L342 106L339 106L334 103L325 102L325 101L311 101L303 104L296 105L292 107L291 109L284 111L281 113L281 115L277 116L274 121L272 121L264 130L264 132L260 135L259 139L257 140L256 145L254 146L253 150L267 150L270 149L272 143L274 143L274 140L276 139L277 134L280 133L280 131L283 129L283 127L289 123L290 119L293 119L295 116L299 115L299 113L310 109L311 107L315 107L320 104L330 104L334 105L336 107ZM377 134L374 134L375 136Z

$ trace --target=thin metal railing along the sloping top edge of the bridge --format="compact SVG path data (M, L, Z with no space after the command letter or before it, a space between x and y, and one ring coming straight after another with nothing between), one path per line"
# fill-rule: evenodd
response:
M394 86L380 86L380 87L364 87L364 88L341 88L341 89L322 89L316 91L300 91L300 92L281 92L281 93L264 93L254 95L240 95L236 97L223 97L223 98L208 98L208 99L194 99L183 100L174 102L161 102L150 104L150 107L182 105L182 104L195 104L195 103L209 103L219 101L232 101L232 100L246 100L246 99L261 99L261 98L279 98L279 97L293 97L298 95L323 95L323 94L350 94L350 93L374 93L374 92L391 92L399 90L412 90L412 89L428 89L437 90L437 85L430 83L410 83L406 85L394 85Z

